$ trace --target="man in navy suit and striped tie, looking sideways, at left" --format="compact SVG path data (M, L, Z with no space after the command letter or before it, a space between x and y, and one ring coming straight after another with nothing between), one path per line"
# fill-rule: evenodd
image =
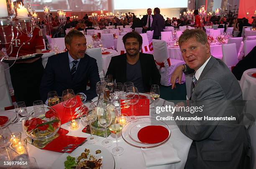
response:
M73 89L74 93L84 93L91 100L97 96L96 83L100 81L96 59L85 54L86 39L78 30L69 31L65 45L67 52L48 58L41 80L41 98L45 102L49 91L57 91L61 96L65 89ZM90 89L86 90L89 81Z

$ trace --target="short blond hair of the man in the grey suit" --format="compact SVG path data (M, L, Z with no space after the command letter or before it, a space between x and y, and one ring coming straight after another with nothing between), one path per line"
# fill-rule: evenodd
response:
M203 45L208 42L207 35L202 29L186 29L179 37L179 46L182 44L182 42L187 41L190 38L195 38L197 42Z

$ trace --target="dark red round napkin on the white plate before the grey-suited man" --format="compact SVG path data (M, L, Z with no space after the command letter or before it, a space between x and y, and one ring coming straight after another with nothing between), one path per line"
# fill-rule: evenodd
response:
M168 136L169 131L163 126L146 126L138 131L138 139L148 144L160 143Z

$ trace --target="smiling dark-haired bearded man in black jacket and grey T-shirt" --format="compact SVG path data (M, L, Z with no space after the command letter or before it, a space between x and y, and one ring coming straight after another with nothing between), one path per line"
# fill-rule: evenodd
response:
M149 92L152 84L160 85L160 73L151 54L140 53L142 37L137 32L123 36L126 53L111 58L107 75L116 82L131 81L141 93Z

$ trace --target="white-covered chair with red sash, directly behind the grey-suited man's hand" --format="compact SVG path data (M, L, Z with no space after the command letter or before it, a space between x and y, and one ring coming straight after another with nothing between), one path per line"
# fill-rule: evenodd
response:
M154 45L154 58L156 62L156 67L159 69L161 75L161 85L171 86L171 76L177 66L184 64L184 61L171 59L168 56L167 45L164 40L153 39ZM184 83L185 78L182 76L182 83ZM177 83L178 81L176 81Z

